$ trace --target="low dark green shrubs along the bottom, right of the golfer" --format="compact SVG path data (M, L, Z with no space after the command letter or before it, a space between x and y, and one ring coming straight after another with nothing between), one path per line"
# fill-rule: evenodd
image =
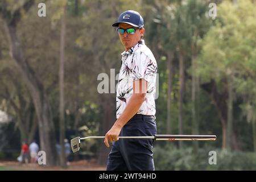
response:
M209 164L209 151L216 151L217 164ZM197 154L192 147L177 149L171 144L154 147L155 169L164 170L255 170L256 155L254 152L230 152L205 145Z

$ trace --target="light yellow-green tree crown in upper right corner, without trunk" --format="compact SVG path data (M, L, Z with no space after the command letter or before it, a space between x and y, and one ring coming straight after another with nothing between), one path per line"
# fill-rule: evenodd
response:
M237 6L225 1L218 7L218 14L215 26L201 42L197 73L205 82L210 78L220 82L229 72L240 75L241 68L255 68L255 6L250 1L239 1Z

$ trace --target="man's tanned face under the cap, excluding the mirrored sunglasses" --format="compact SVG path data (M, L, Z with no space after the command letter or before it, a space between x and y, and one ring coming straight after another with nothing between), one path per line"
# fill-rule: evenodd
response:
M142 28L141 30L136 29L136 27L131 26L130 24L127 23L119 23L118 28L123 28L123 29L127 29L127 28L135 28L135 34L127 34L127 32L125 31L124 34L119 34L119 38L123 44L123 46L125 46L125 50L129 50L131 47L133 47L135 44L137 44L139 42L139 40L141 40L141 36L144 34L144 28Z

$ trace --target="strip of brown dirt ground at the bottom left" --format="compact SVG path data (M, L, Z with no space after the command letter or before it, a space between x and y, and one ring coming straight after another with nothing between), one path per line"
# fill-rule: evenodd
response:
M22 164L18 165L15 161L0 161L0 169L2 170L19 170L19 171L105 171L105 166L100 166L95 160L80 160L70 162L68 168L46 167L38 164Z

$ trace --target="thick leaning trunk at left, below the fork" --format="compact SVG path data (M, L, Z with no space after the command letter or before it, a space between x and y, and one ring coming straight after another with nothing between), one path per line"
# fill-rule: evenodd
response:
M54 166L57 156L55 130L46 93L44 92L43 85L36 78L34 71L23 56L22 48L16 35L16 24L11 24L5 20L5 29L10 43L11 57L13 57L19 72L23 76L34 102L39 123L41 149L46 152L47 165Z

